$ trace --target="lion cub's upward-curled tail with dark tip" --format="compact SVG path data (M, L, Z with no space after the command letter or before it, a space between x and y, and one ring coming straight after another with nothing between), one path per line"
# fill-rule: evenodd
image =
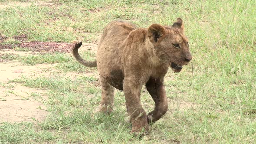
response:
M72 49L72 53L73 56L75 56L75 59L80 62L82 65L88 66L90 68L92 67L96 67L97 66L97 62L96 60L94 62L89 62L89 61L85 61L84 59L81 58L81 56L78 53L78 49L82 46L82 42L79 43L75 43Z

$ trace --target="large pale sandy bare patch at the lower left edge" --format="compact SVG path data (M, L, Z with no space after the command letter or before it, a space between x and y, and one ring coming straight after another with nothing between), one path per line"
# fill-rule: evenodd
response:
M47 99L45 90L31 89L22 85L13 88L0 87L0 123L42 121L48 112L43 102ZM38 95L34 98L32 95Z

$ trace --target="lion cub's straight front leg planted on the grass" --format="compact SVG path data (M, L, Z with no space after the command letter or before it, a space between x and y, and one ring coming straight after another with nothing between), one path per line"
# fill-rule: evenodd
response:
M125 101L128 115L132 125L131 133L136 135L149 131L147 114L141 106L140 95L142 84L132 78L125 78L123 81Z

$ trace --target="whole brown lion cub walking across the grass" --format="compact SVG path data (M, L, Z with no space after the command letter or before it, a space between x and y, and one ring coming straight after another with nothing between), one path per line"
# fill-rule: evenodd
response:
M112 21L103 32L98 44L97 67L102 85L101 111L113 109L114 88L124 91L132 133L149 130L148 123L158 121L167 111L164 75L169 66L180 72L182 65L192 59L188 40L184 36L183 21L178 18L173 26L152 24L136 28L132 23ZM73 48L75 58L85 66L95 62L83 60L78 53L82 42ZM146 85L155 102L148 115L141 106L141 88Z

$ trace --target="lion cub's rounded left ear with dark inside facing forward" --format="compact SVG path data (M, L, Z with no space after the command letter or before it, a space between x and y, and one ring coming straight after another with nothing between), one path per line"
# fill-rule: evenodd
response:
M165 34L165 29L160 24L152 24L148 27L148 37L151 43L156 43Z

